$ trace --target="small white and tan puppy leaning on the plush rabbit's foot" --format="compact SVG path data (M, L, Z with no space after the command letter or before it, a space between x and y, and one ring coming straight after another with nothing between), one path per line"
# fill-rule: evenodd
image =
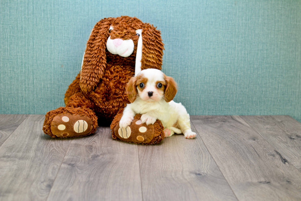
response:
M126 91L131 103L123 111L120 128L126 128L136 114L142 114L140 119L147 125L159 119L165 128L165 137L174 133L183 133L188 139L196 136L191 131L190 117L185 107L172 100L177 93L176 82L161 70L142 70L130 79Z

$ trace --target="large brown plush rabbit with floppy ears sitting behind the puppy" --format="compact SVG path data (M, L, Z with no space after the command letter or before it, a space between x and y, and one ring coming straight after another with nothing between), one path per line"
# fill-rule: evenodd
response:
M121 16L97 22L87 42L80 73L66 91L66 107L45 115L45 134L59 138L89 135L98 125L109 125L115 117L111 124L114 139L160 142L164 133L159 120L154 125L139 125L134 123L140 118L136 115L127 135L119 135L116 125L123 108L130 103L125 93L127 82L143 69L161 70L163 45L160 31L138 18Z

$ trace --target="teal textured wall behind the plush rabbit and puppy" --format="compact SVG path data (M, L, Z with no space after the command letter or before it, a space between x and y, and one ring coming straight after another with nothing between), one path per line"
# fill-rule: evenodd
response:
M291 115L301 121L301 1L1 0L0 113L64 106L101 18L162 31L163 72L191 115Z

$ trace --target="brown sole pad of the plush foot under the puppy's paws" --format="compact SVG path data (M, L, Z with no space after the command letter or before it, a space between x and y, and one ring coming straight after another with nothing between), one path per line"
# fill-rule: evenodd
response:
M140 119L134 119L130 126L119 128L116 125L114 133L117 138L134 143L149 143L154 138L154 125L146 125Z

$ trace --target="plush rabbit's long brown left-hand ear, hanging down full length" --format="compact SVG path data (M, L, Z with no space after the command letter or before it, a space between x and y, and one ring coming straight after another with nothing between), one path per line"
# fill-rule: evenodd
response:
M96 23L87 42L80 71L80 88L84 92L94 89L104 75L107 64L106 42L109 37L111 18Z

